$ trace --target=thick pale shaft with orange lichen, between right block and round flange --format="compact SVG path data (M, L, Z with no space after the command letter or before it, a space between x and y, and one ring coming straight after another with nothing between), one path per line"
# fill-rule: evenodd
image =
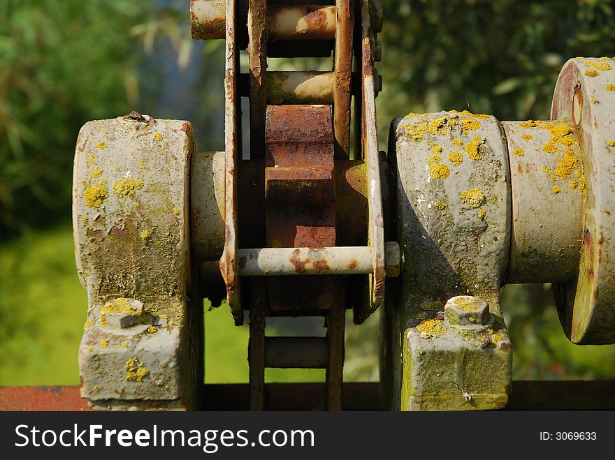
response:
M583 230L585 176L567 121L502 121L512 187L509 283L574 278Z

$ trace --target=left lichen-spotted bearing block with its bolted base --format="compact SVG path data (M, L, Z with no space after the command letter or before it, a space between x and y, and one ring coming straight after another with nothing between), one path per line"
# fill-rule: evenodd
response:
M189 409L202 380L193 295L187 121L136 112L82 127L75 152L75 255L88 313L81 394L94 408Z

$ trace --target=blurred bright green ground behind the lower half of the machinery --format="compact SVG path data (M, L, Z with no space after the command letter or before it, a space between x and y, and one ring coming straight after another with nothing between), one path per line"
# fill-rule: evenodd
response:
M515 379L615 378L615 346L570 343L542 285L508 286L502 309L513 342ZM77 350L86 311L71 228L1 244L0 385L78 385ZM378 380L378 316L355 326L348 313L345 380ZM291 335L288 325L267 330ZM248 336L247 326L233 325L228 306L205 309L207 383L248 381ZM266 381L324 381L324 371L267 369Z

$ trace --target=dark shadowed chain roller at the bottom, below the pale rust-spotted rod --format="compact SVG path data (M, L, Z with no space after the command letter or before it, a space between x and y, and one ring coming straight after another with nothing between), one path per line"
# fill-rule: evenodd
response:
M266 337L265 366L278 369L326 369L324 337Z

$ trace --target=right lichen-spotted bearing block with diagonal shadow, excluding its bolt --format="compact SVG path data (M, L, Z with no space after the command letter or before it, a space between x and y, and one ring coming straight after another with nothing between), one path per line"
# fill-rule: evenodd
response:
M390 355L383 378L391 408L501 407L511 353L499 295L510 228L508 152L500 123L469 112L409 114L393 121L389 161L397 177L394 214L405 258L383 318L392 332L383 350ZM456 295L489 303L489 327L501 348L494 352L481 347L479 335L449 331L442 311Z

